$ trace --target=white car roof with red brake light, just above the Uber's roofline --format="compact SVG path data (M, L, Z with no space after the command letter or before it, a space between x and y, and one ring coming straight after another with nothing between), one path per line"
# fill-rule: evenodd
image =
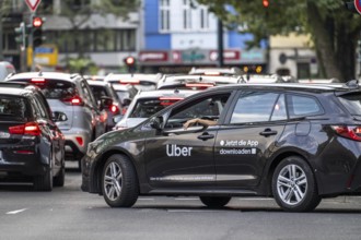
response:
M207 89L212 86L242 83L242 76L164 74L158 82L158 89Z

